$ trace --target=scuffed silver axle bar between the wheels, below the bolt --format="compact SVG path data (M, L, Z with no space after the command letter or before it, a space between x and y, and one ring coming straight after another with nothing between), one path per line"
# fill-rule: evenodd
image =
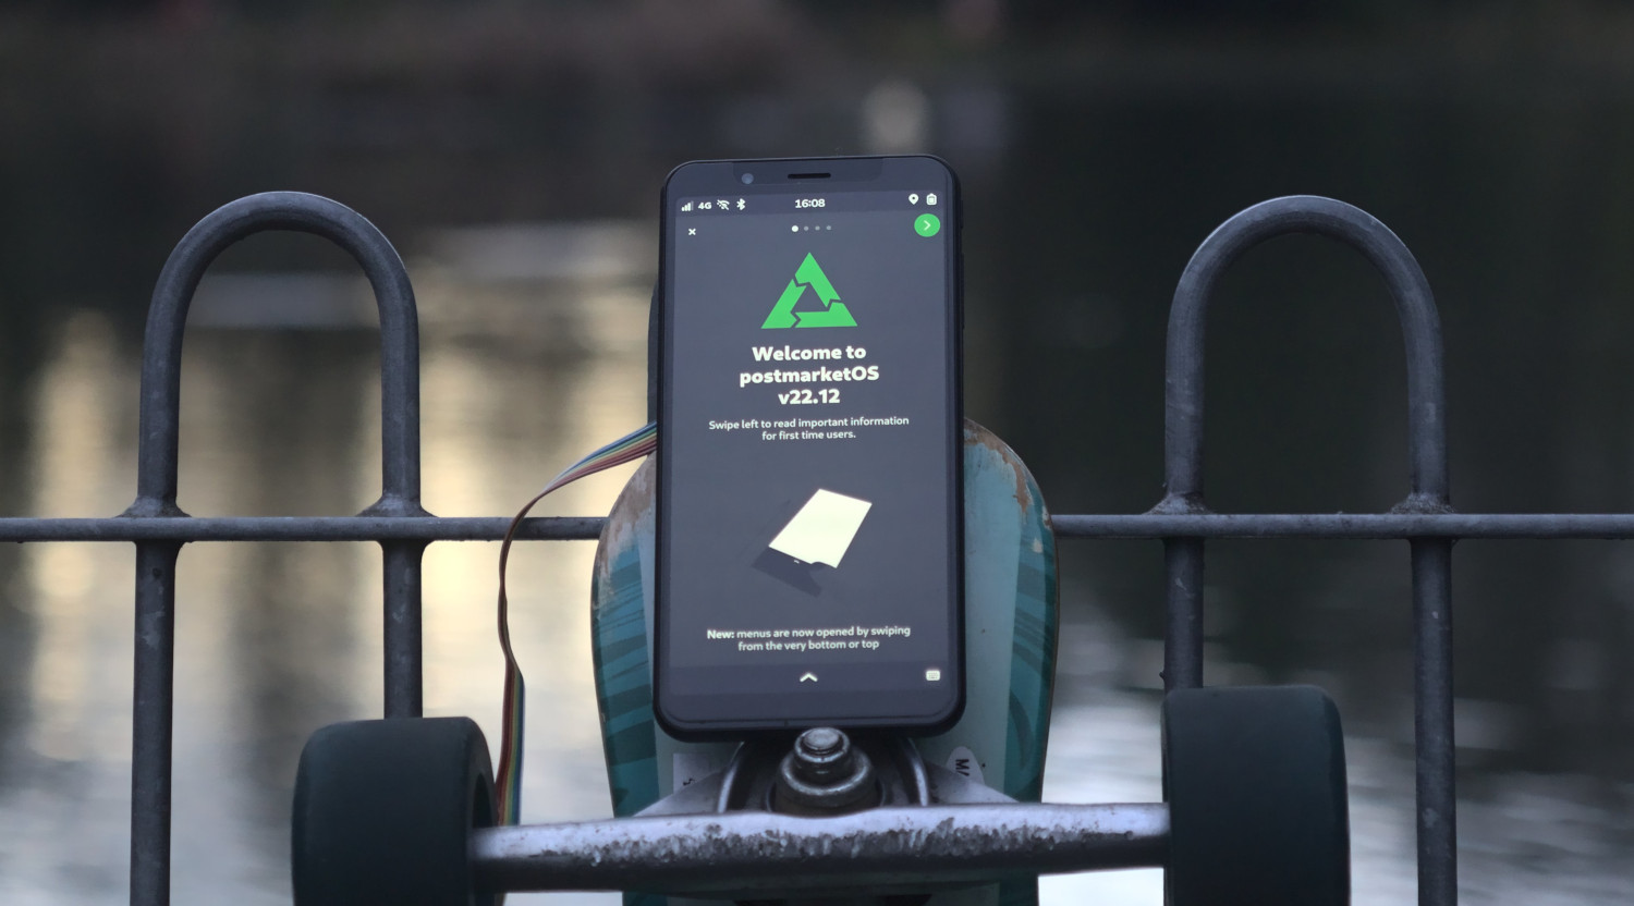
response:
M472 833L479 890L871 893L1092 868L1160 867L1167 805L941 805L835 818L770 811Z

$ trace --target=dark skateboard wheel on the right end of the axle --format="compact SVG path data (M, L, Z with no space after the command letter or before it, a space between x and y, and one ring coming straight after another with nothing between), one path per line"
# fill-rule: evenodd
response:
M1163 800L1170 906L1350 903L1345 738L1320 689L1170 692Z

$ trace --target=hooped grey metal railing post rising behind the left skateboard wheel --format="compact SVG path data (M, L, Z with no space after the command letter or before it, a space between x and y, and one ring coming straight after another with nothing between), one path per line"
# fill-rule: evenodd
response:
M428 516L420 508L420 326L413 289L391 242L350 207L304 193L263 193L199 220L165 261L142 346L137 495L123 516L178 517L181 335L211 261L258 232L320 235L369 278L381 313L381 500L366 516ZM386 715L418 717L420 553L425 542L382 540ZM170 761L175 677L176 553L170 540L136 544L136 694L131 726L131 903L170 901Z

